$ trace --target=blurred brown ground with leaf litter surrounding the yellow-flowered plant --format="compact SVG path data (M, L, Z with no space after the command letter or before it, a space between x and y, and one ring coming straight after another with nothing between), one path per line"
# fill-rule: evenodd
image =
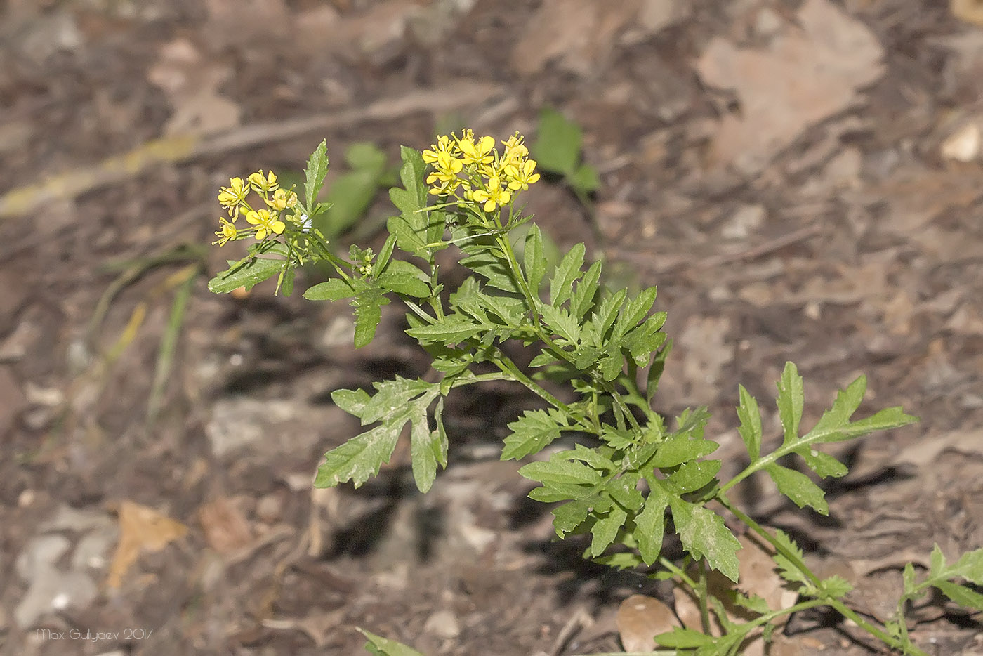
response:
M620 649L618 603L660 590L550 542L497 461L521 390L449 399L427 497L398 451L314 491L359 432L330 391L428 361L396 306L355 351L343 304L205 288L245 248L207 245L231 176L298 180L326 139L324 229L377 246L400 145L533 143L544 116L586 178L528 210L611 284L659 284L659 407L710 406L726 471L737 384L777 440L786 360L809 421L859 374L861 413L921 417L834 451L822 522L743 492L890 613L899 559L983 543L981 25L978 0L0 2L0 652L352 654L355 626L428 654ZM918 620L983 651L960 651L978 624ZM786 646L865 653L832 628Z

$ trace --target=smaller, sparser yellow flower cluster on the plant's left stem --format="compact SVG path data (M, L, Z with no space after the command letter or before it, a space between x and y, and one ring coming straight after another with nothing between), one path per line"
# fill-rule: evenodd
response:
M251 191L260 195L266 207L253 209L246 200ZM246 180L230 178L229 186L222 187L218 192L218 204L229 212L229 218L222 216L218 219L218 230L215 231L218 239L212 243L219 246L250 235L255 235L262 241L268 236L283 234L287 224L281 220L280 214L287 209L294 209L294 215L289 217L294 223L302 224L304 218L295 209L297 194L292 190L281 189L280 183L276 181L276 174L272 171L266 174L261 170L257 171ZM235 225L240 214L244 214L246 222L250 224L242 230Z

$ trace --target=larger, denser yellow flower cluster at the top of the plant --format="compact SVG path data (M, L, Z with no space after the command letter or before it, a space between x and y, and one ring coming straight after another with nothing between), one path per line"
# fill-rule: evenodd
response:
M460 138L437 137L436 144L423 152L424 161L434 169L427 178L430 193L479 204L485 211L508 205L513 195L540 179L523 139L515 133L501 143L505 148L499 152L492 137L476 139L471 130Z

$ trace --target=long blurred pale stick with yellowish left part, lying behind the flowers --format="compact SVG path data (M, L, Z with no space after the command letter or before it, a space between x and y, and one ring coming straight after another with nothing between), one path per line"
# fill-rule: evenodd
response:
M150 141L125 154L103 159L98 164L49 176L36 184L11 190L0 196L0 218L29 214L52 202L75 199L81 194L142 175L159 164L176 164L222 155L339 126L393 120L430 111L434 107L446 111L482 104L502 90L497 85L457 83L440 89L382 98L358 109L257 123L217 135L183 135Z

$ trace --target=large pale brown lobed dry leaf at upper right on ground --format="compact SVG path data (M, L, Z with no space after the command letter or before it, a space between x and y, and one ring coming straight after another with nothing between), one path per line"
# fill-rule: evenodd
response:
M842 111L855 89L885 71L884 50L862 23L829 0L806 0L770 50L738 48L716 37L700 58L700 77L711 87L735 89L740 114L723 117L712 165L761 170L803 130Z

